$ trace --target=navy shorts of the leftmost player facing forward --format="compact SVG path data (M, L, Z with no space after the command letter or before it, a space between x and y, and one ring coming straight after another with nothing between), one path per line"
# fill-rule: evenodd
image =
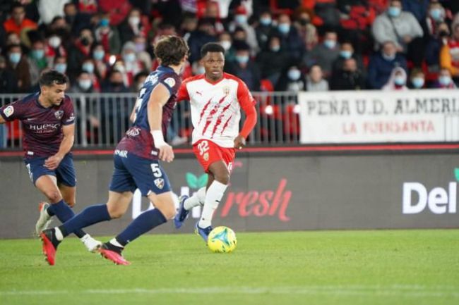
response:
M76 173L75 167L73 166L72 154L66 154L55 170L49 170L44 167L44 161L47 158L48 157L24 159L25 167L29 172L30 180L32 180L33 185L35 185L37 179L42 175L52 175L56 177L58 184L63 184L68 187L76 186Z

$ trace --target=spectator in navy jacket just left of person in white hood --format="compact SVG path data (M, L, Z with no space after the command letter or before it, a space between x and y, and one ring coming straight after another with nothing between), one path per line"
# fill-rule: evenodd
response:
M395 67L407 70L407 61L403 54L398 54L393 42L383 43L381 52L371 56L368 65L368 83L370 89L381 89L388 82Z

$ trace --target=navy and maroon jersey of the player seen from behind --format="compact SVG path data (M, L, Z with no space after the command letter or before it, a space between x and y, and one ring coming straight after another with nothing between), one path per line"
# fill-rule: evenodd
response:
M162 134L167 135L167 127L177 104L177 90L181 85L181 80L172 68L159 66L143 82L136 101L136 120L119 142L117 151L126 151L142 158L157 160L157 149L155 149L153 136L150 134L150 125L148 124L147 106L151 92L160 83L165 85L170 93L169 99L162 107Z

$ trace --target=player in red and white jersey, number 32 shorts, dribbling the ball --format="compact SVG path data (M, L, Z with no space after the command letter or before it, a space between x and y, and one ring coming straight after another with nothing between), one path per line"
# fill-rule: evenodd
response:
M177 101L191 104L193 151L208 173L207 189L199 189L193 197L181 197L179 213L174 218L180 228L193 206L203 205L196 232L207 242L212 230L212 216L227 189L237 149L246 144L246 137L256 124L255 99L246 84L234 75L223 73L225 49L216 43L201 48L203 75L182 82ZM246 120L239 131L241 108Z

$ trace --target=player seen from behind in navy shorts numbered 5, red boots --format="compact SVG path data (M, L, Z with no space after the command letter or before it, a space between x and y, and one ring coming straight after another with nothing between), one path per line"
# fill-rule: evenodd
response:
M133 112L133 126L114 151L114 173L107 204L89 206L63 225L41 233L49 264L54 264L57 246L67 235L126 213L137 188L155 208L141 213L117 237L102 244L99 250L102 256L114 263L128 265L121 255L126 244L174 217L171 187L158 161L174 159L172 147L165 142L164 135L176 105L181 84L179 74L188 51L181 37L162 37L155 44L155 56L161 66L145 79Z

